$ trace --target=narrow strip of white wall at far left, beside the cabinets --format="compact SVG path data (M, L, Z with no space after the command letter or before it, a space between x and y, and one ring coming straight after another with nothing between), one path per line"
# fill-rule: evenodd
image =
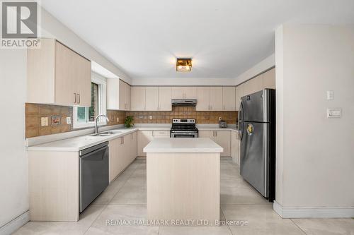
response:
M0 49L0 227L28 210L26 52ZM2 229L0 229L1 234Z

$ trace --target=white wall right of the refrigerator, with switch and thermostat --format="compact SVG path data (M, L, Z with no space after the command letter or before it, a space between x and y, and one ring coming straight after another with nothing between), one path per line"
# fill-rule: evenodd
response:
M276 201L353 217L354 26L283 25L275 42ZM341 119L327 119L327 107Z

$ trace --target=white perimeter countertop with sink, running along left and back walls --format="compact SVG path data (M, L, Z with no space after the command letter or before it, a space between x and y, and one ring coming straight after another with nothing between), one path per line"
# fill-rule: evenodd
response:
M73 138L65 138L64 140L56 140L52 141L49 143L43 143L40 145L33 145L30 147L27 147L28 151L67 151L67 152L76 152L80 150L84 150L87 147L92 147L93 145L98 145L100 143L103 143L105 141L113 140L115 138L119 138L120 136L127 135L129 133L141 130L141 131L152 131L152 130L157 130L157 131L169 131L171 128L171 125L169 124L164 124L164 125L159 125L156 124L156 126L152 125L137 125L133 128L115 128L113 129L114 131L121 131L121 133L113 134L113 135L108 135L108 136L90 136L90 135L81 135L78 137L73 137ZM218 126L203 126L200 125L198 126L198 129L200 131L237 131L236 128L234 127L228 127L228 128L219 128ZM110 131L113 131L110 130ZM181 138L177 138L181 139ZM198 138L201 139L201 138ZM190 138L188 138L190 140Z

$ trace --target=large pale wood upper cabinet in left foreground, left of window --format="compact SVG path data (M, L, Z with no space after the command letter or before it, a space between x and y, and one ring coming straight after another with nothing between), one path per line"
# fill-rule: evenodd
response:
M91 61L55 39L27 50L28 102L91 106Z

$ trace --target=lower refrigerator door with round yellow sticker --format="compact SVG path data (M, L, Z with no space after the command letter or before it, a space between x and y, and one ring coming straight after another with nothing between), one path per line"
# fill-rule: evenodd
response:
M269 197L269 123L241 123L241 176Z

